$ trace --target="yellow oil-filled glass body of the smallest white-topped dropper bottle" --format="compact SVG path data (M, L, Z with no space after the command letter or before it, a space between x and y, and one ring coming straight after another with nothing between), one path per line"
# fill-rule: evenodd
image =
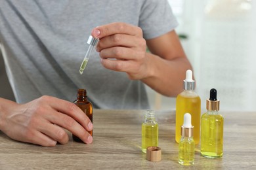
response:
M195 160L195 143L193 138L182 137L179 141L179 163L193 165Z

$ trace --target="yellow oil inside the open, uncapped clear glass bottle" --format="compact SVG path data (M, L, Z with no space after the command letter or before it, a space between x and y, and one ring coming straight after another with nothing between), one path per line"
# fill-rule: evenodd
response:
M158 146L158 124L154 122L154 124L142 124L142 152L146 153L146 148L148 146Z

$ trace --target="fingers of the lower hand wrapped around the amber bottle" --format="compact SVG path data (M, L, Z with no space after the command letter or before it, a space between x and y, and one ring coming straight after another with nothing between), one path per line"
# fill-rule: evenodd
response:
M49 124L68 129L71 133L79 137L84 143L92 143L93 138L88 133L93 129L91 120L86 114L79 109L74 103L58 99L51 96L40 97L42 103L48 103L51 109L43 110L43 117L49 121ZM54 131L46 131L43 129L51 129L49 124L42 126L40 131L49 135L60 143L66 143L66 135L59 128L54 128Z

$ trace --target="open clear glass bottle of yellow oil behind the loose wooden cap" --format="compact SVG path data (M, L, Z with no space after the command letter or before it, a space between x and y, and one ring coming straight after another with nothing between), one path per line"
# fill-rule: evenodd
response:
M146 110L141 134L142 152L146 153L148 146L158 146L158 123L156 122L154 110Z

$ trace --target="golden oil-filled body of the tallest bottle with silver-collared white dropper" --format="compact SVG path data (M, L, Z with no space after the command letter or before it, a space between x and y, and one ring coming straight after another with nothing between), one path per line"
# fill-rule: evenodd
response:
M201 118L201 99L193 91L180 93L176 99L176 133L175 141L181 140L181 126L183 124L184 114L191 114L191 124L194 126L194 143L200 142L200 118Z

